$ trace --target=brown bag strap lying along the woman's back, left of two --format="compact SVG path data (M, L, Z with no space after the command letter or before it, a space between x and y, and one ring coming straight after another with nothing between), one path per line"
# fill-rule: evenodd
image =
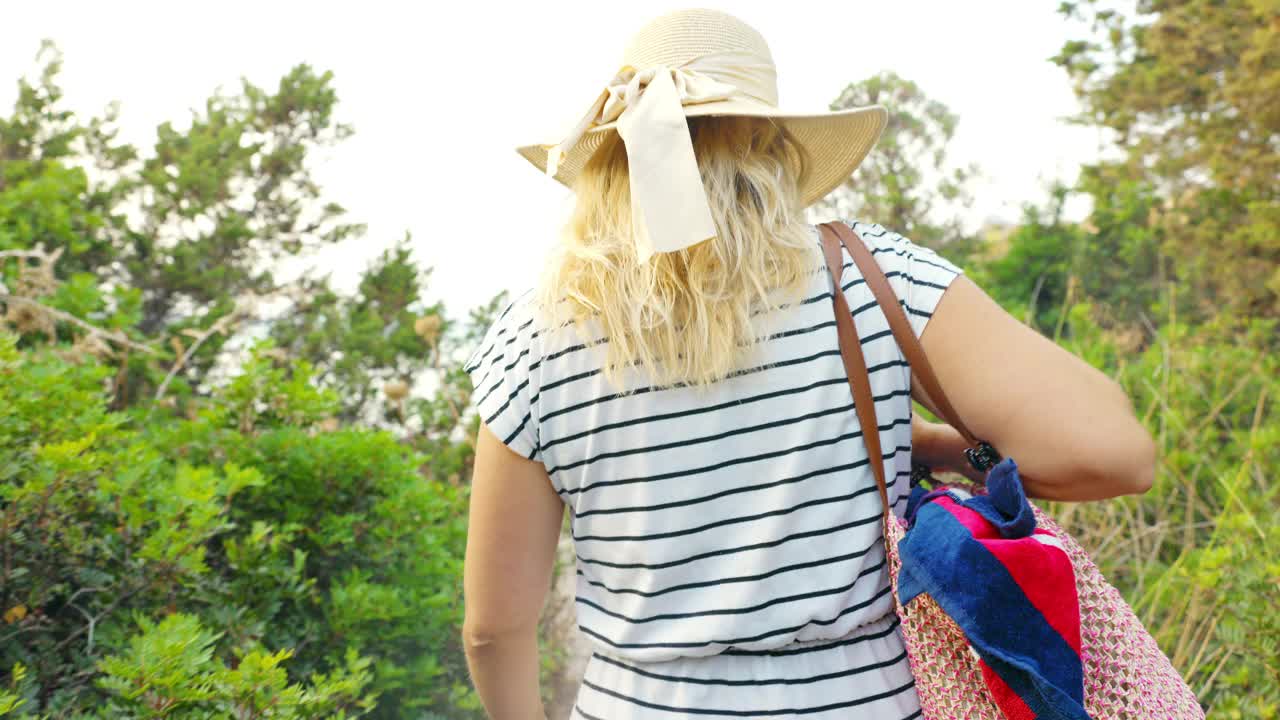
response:
M876 475L876 487L883 503L882 516L888 519L888 484L884 482L884 456L881 451L879 427L876 423L876 396L872 395L870 375L867 374L867 359L863 356L863 343L858 340L854 314L840 286L841 270L845 266L840 252L840 238L827 225L819 225L822 251L827 258L827 272L831 274L832 299L836 307L836 333L840 337L840 359L845 363L849 375L849 389L854 395L854 410L867 445L867 461Z

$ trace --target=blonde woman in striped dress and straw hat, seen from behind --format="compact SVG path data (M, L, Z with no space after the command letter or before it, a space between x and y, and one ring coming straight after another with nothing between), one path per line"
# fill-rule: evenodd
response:
M573 717L919 715L804 220L884 113L786 114L776 96L754 29L673 13L640 31L563 142L521 149L577 204L541 288L467 364L484 424L463 639L492 717L544 716L536 623L566 506L595 651ZM1153 443L1116 384L934 252L851 227L956 410L1018 457L1032 495L1149 487ZM960 469L965 446L913 415L910 369L847 256L841 291L901 512L913 457Z

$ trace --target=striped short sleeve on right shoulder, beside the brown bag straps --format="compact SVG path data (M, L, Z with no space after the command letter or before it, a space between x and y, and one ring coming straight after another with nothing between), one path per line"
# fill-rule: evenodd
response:
M882 225L851 222L854 229L884 270L911 329L919 337L951 282L963 270L928 247L915 245Z

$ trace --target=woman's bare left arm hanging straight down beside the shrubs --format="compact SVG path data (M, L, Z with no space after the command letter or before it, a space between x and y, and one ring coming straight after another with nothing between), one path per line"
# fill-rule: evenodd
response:
M494 720L544 720L538 619L547 601L564 505L541 464L480 427L471 480L462 642Z

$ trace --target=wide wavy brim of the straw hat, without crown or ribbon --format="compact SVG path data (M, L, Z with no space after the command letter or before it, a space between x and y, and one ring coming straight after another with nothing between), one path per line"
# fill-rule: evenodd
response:
M879 140L888 122L888 113L879 105L835 110L829 113L787 113L764 102L727 100L686 105L685 115L739 115L773 118L787 129L806 158L806 173L800 178L800 197L808 208L845 182L858 169L867 154ZM556 179L573 186L577 174L586 165L607 133L616 132L614 123L591 128L577 145L561 158ZM517 147L535 168L547 172L547 152L553 145L525 145Z

